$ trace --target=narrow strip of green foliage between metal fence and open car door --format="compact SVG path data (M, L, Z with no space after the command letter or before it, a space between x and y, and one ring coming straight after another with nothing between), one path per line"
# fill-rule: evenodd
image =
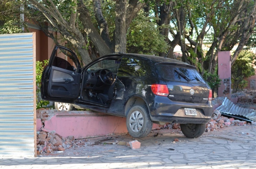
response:
M36 61L36 109L46 107L50 102L42 100L41 98L41 78L44 67L48 64L49 60L44 62Z

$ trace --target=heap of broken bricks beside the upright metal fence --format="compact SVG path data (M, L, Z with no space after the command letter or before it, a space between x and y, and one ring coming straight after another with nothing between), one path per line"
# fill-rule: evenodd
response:
M36 134L37 154L64 151L68 148L87 147L87 139L75 140L74 136L61 137L55 131L40 131Z

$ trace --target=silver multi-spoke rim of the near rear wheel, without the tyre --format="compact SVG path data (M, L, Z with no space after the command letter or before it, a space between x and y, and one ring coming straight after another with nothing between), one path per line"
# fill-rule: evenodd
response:
M143 115L139 111L132 112L129 119L130 129L132 129L133 132L139 132L143 127L143 123Z

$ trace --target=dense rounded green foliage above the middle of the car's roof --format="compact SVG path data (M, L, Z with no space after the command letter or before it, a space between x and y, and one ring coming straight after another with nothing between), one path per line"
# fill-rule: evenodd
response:
M153 17L145 17L140 12L132 21L127 32L127 52L148 55L158 55L160 52L167 53L169 45L165 37L160 34L159 26L151 22Z

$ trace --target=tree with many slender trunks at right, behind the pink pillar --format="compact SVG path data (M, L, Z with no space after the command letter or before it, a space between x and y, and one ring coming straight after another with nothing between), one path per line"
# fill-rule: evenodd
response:
M171 40L166 39L169 52L161 55L172 58L178 44L183 61L195 65L202 74L204 70L214 73L218 51L238 44L233 65L256 26L255 7L256 0L156 0L157 22L166 25L162 34L172 35Z

